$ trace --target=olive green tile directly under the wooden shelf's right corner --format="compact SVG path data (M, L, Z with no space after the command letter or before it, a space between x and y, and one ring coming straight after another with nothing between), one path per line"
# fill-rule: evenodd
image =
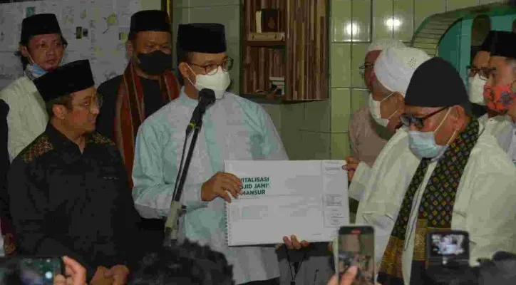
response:
M301 130L330 132L331 100L304 103L304 123Z

